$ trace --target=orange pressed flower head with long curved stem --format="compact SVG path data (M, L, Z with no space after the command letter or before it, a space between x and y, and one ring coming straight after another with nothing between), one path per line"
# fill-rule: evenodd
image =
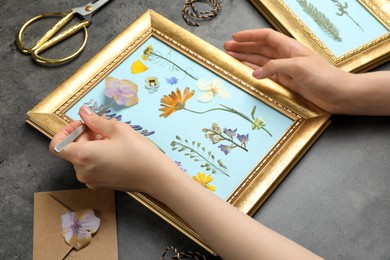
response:
M171 94L164 95L160 101L162 108L159 110L163 112L160 114L160 116L168 117L173 112L183 109L185 107L186 101L189 100L194 94L194 90L190 91L190 88L186 87L183 94L181 93L180 89L176 89L175 92L171 91Z

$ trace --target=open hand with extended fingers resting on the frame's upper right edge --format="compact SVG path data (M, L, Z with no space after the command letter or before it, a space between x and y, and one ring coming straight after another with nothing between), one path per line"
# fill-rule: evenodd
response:
M258 79L271 78L331 113L343 113L350 93L346 73L298 41L272 29L233 34L224 48L253 68Z

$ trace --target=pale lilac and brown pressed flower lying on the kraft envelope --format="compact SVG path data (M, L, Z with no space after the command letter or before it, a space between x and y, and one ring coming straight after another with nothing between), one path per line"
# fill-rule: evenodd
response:
M92 209L67 212L61 216L62 236L65 241L77 250L91 242L92 234L100 226L100 219Z

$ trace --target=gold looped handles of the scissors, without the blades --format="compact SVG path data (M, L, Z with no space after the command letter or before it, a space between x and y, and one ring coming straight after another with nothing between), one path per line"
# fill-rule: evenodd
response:
M87 26L89 25L89 22L87 20L84 20L80 23L77 23L76 25L72 26L71 28L65 30L64 32L59 33L58 35L54 36L62 27L65 26L66 23L68 23L74 16L74 12L71 11L69 13L44 13L38 16L35 16L28 20L19 30L17 37L16 37L16 45L19 48L19 50L24 54L31 54L32 59L34 59L36 62L41 64L62 64L65 62L68 62L72 59L74 59L77 55L81 53L81 51L85 48L87 40L88 40L88 31ZM29 27L32 23L36 22L37 20L44 19L47 17L63 17L59 22L57 22L56 25L54 25L33 47L28 48L23 43L23 33ZM46 58L40 56L40 53L45 51L46 49L52 47L53 45L65 40L66 38L70 37L71 35L75 34L79 30L84 29L84 41L81 45L81 47L74 52L73 54L65 57L65 58Z

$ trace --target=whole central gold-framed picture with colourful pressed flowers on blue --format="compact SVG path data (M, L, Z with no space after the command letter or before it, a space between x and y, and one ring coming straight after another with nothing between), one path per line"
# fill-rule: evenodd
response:
M330 115L251 73L148 10L32 108L27 123L52 138L78 119L81 105L98 110L112 103L107 117L146 135L194 181L253 215L327 127ZM129 195L214 253L165 205L138 192Z

